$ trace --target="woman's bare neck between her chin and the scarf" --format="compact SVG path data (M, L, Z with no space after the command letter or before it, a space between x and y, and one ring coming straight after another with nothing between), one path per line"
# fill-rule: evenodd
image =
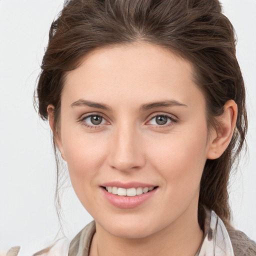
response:
M173 223L142 238L123 238L112 235L96 223L91 256L194 256L203 232L197 221L197 209L184 212Z

